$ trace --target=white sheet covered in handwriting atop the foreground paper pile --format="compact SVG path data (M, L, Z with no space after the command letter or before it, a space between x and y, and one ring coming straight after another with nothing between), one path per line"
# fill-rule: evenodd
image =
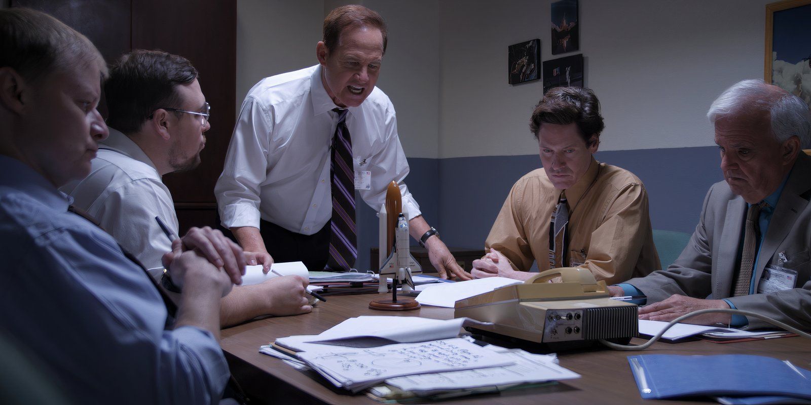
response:
M333 346L329 350L298 353L298 358L354 392L392 377L499 367L515 362L504 353L460 338L371 348Z

